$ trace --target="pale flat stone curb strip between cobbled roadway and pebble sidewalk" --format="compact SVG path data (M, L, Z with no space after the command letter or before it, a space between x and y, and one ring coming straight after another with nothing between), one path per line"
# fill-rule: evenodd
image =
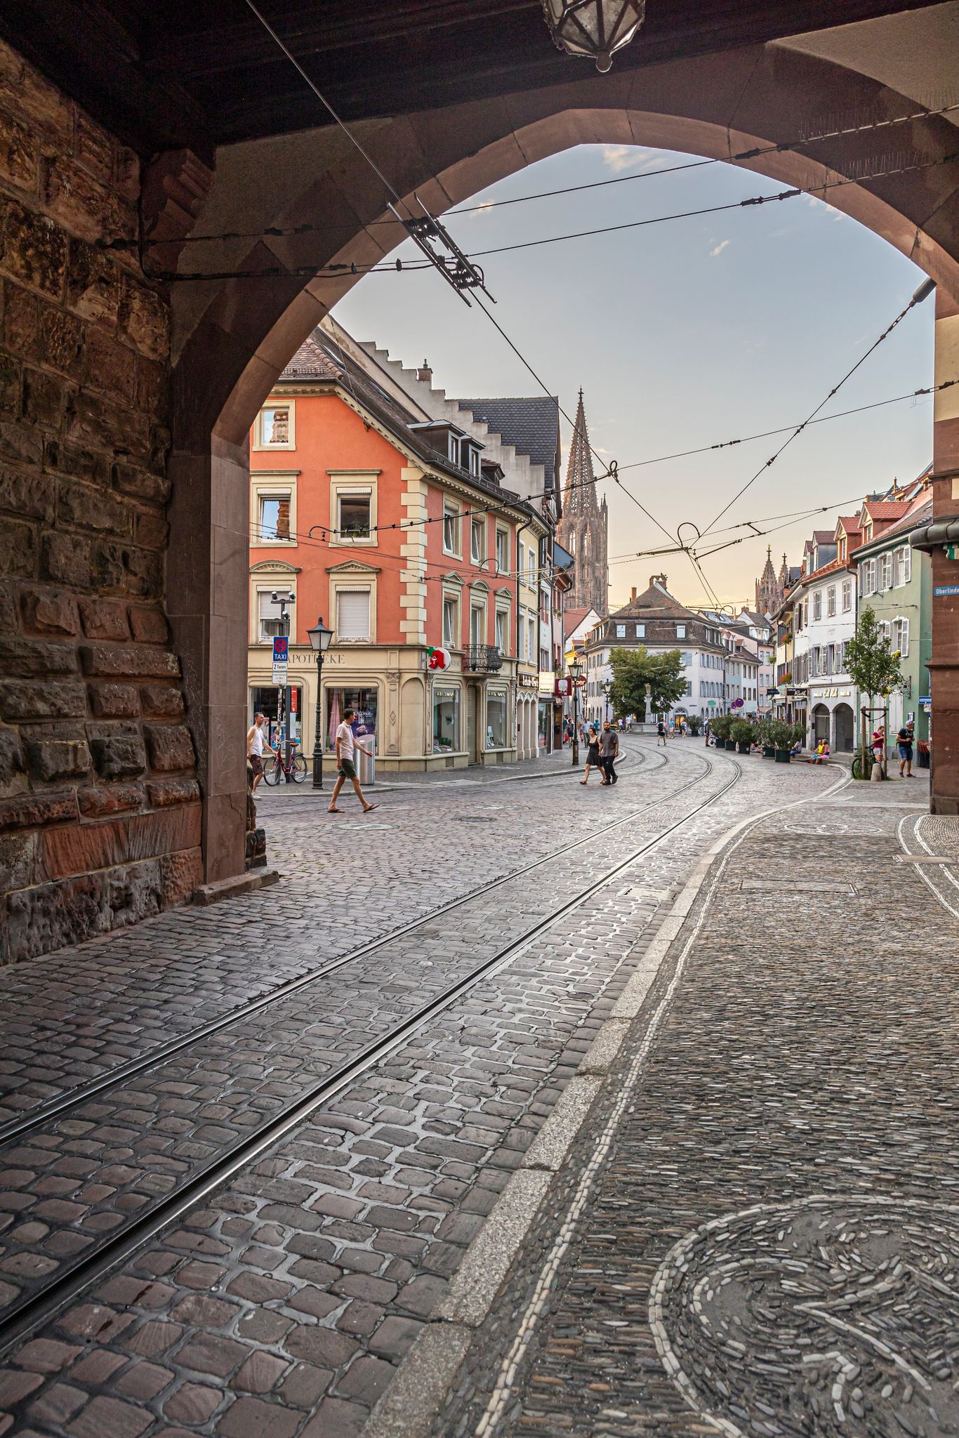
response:
M835 765L840 768L840 765ZM828 798L850 781L844 774L815 795ZM476 1330L489 1314L513 1258L531 1232L555 1173L592 1112L610 1068L673 948L706 879L736 835L751 824L809 800L762 810L726 830L696 863L670 913L647 943L643 956L584 1054L579 1068L556 1100L523 1163L512 1175L486 1224L466 1251L430 1323L403 1359L397 1376L364 1424L359 1438L428 1438L436 1415L466 1359Z

